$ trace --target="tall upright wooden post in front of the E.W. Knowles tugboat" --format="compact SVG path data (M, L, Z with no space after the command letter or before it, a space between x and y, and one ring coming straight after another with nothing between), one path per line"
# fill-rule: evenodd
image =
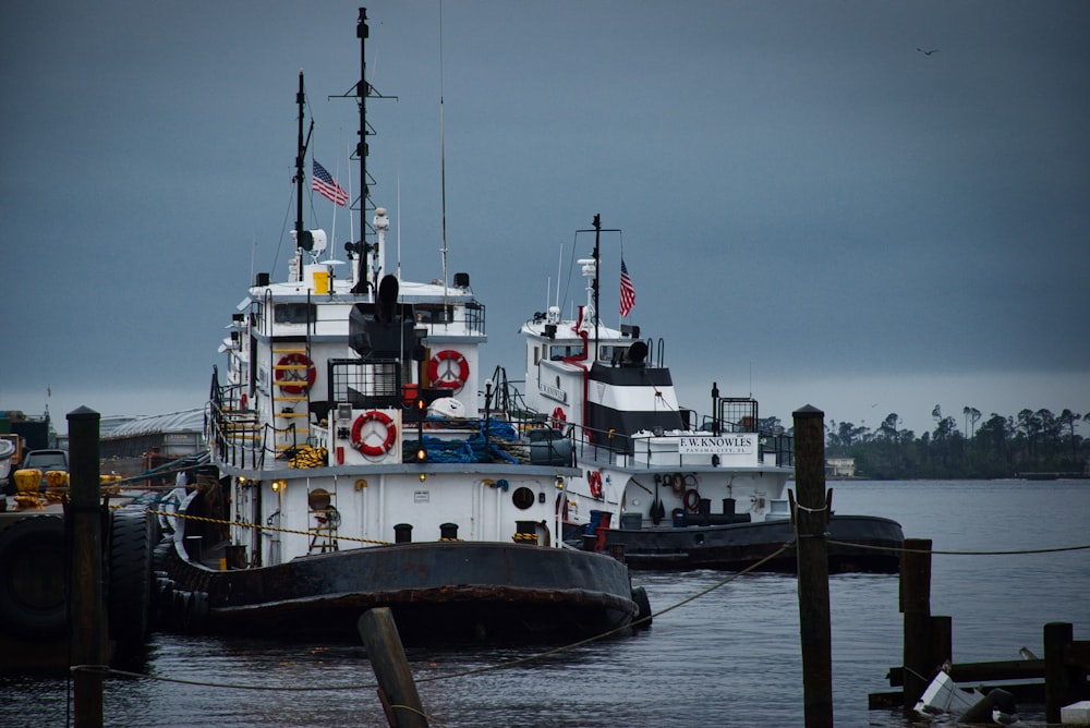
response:
M799 631L807 728L833 726L833 636L828 607L828 508L825 495L825 413L794 413L795 533L799 563Z

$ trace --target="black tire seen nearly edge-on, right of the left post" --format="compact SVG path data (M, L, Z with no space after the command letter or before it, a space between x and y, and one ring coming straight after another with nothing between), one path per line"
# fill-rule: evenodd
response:
M143 645L152 595L152 522L144 509L122 508L110 524L110 636Z

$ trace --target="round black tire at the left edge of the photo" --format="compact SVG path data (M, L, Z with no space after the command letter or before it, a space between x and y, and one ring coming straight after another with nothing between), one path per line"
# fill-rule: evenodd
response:
M34 515L0 531L0 630L20 640L68 634L64 521Z

